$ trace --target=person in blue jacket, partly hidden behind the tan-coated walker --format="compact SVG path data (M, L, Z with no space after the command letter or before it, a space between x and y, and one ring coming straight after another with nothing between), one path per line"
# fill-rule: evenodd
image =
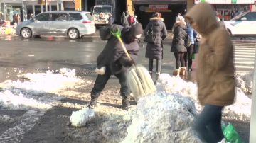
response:
M195 45L195 40L196 38L194 38L194 30L191 27L191 25L189 23L186 23L187 28L186 28L186 33L188 35L188 40L190 45L188 45L187 47L187 52L185 52L184 55L184 59L185 59L185 67L188 67L188 71L192 71L192 61L193 61L193 48Z

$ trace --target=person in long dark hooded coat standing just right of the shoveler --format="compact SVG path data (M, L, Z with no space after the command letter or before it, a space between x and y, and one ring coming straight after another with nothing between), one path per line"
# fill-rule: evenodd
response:
M161 17L161 13L155 12L149 19L146 28L144 30L144 35L151 32L153 41L147 42L146 45L146 58L149 59L149 74L153 74L153 62L156 59L156 81L161 73L161 60L163 59L163 40L167 36L166 25L164 24L164 19Z

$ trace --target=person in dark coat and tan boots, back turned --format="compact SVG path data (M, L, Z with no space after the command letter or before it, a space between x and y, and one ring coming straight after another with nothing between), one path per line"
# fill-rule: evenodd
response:
M171 43L171 52L174 52L175 67L173 75L185 75L186 64L184 55L187 52L186 45L186 22L183 16L178 16L174 23L174 38Z

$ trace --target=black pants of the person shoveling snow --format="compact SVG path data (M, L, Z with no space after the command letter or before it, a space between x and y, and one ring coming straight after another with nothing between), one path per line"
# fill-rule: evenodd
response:
M110 79L110 76L111 76L111 71L110 71L109 67L106 67L106 71L105 71L104 75L100 75L100 74L97 75L95 84L91 91L92 99L98 98L100 96L100 93L105 88L105 85L107 84L107 81ZM126 72L121 72L120 74L116 74L114 76L116 76L119 79L119 83L121 85L120 93L121 93L122 98L127 98L129 93L131 93L131 92L129 91L129 88L127 85Z

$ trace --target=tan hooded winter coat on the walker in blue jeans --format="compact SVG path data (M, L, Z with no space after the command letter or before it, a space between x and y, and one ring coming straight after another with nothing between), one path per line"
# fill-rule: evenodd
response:
M198 100L202 105L230 105L235 99L233 44L228 31L220 28L210 4L193 6L186 18L201 36L196 61Z

